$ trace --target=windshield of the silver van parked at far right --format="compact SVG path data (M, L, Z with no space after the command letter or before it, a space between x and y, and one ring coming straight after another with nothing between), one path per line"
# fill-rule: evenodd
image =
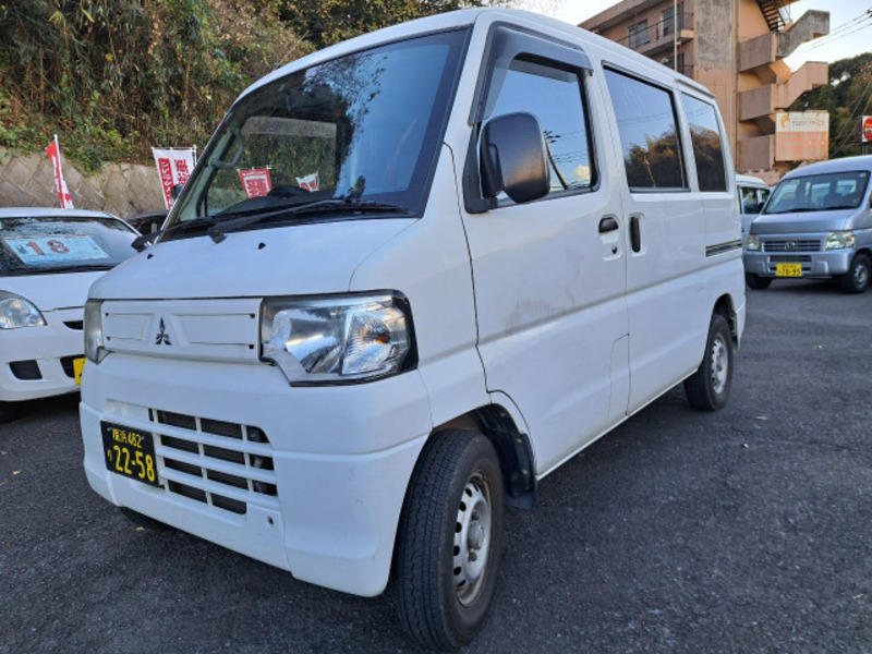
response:
M810 174L782 180L764 214L856 209L865 197L868 170Z

